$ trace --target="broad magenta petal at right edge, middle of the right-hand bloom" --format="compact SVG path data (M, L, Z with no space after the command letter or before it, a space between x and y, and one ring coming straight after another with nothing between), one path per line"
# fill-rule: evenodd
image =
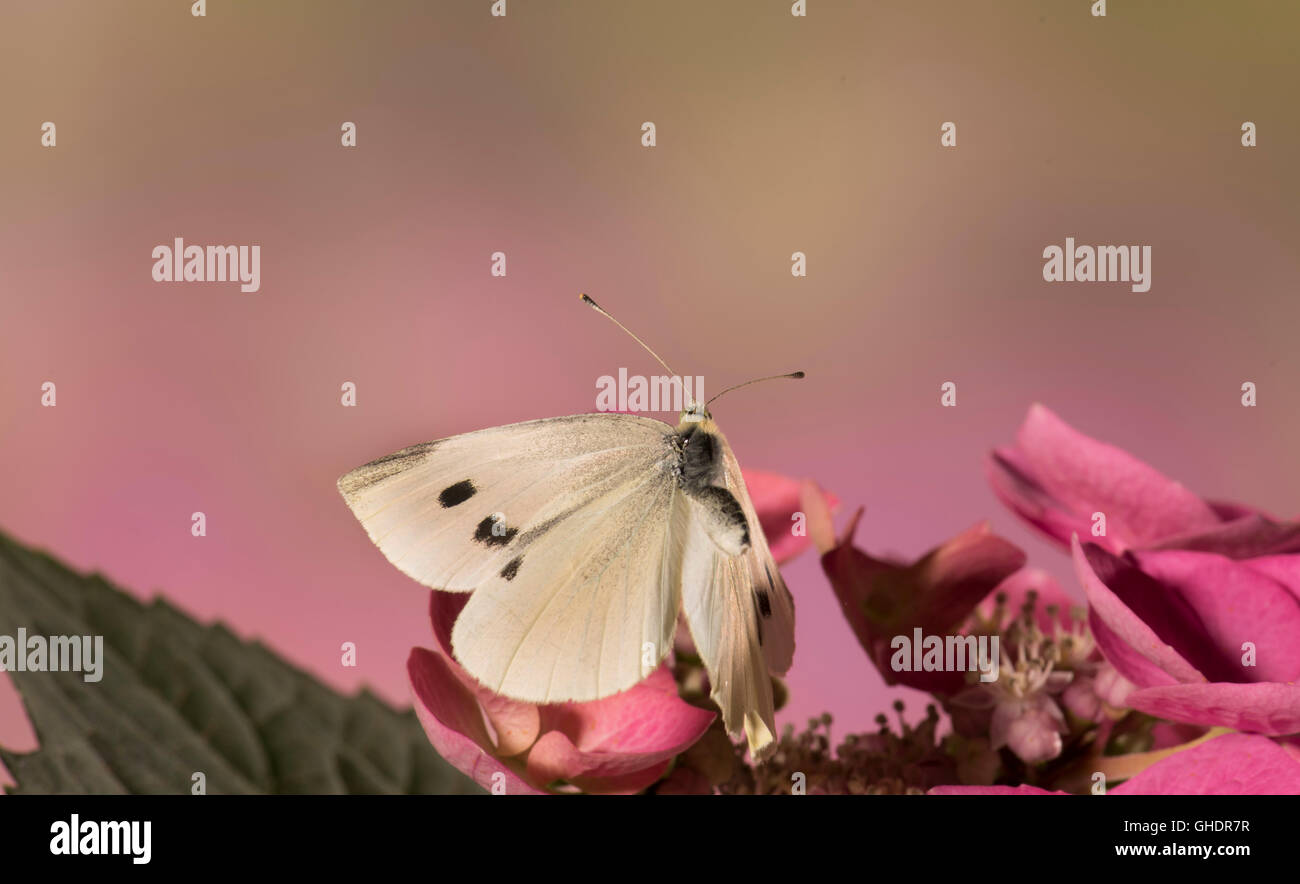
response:
M1300 556L1277 556L1254 567L1213 552L1138 552L1135 559L1193 608L1202 628L1197 641L1217 650L1225 663L1217 671L1201 667L1214 681L1300 677L1300 599L1268 576L1271 569L1300 577ZM1243 642L1254 644L1254 666L1242 666Z

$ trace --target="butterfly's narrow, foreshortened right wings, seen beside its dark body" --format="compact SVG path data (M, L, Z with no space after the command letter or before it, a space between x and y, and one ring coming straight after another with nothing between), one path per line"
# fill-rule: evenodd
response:
M745 732L750 754L776 748L772 672L783 673L794 655L794 601L781 578L749 498L740 463L722 442L723 484L740 502L751 526L750 547L727 555L692 523L682 552L682 610L708 671L712 699L733 736ZM688 519L697 519L682 500Z

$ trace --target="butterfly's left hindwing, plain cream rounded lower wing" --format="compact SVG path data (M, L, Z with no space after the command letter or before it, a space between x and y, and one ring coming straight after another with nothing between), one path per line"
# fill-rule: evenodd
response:
M537 703L607 697L650 675L680 606L680 497L671 474L646 474L558 524L469 597L456 659Z

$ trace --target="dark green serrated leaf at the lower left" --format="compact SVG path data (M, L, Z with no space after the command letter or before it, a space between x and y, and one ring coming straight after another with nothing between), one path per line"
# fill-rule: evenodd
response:
M0 534L0 634L103 636L103 679L10 672L40 748L0 748L18 793L481 792L411 710L344 697L221 624L142 604Z

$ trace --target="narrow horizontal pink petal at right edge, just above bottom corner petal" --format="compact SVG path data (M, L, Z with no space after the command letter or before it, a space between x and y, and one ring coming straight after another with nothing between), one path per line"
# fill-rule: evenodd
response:
M1204 727L1282 736L1300 731L1300 685L1182 684L1139 688L1127 705L1139 711Z

